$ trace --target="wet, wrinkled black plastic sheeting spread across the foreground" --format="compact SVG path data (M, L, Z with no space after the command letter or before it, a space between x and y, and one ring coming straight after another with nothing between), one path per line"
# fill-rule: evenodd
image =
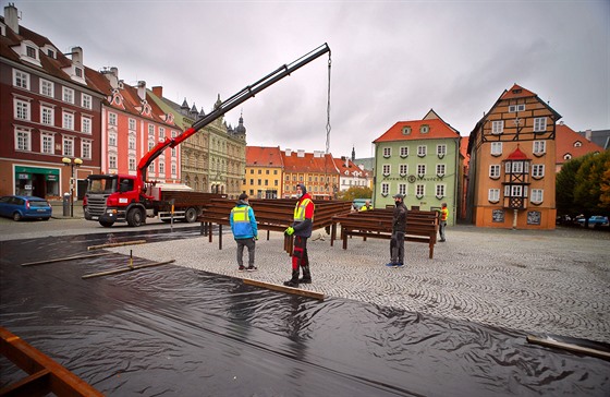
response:
M108 239L0 242L0 324L108 396L610 395L610 362L529 345L521 332L173 265L81 278L126 265L119 254L20 266ZM0 374L0 386L24 376L4 358Z

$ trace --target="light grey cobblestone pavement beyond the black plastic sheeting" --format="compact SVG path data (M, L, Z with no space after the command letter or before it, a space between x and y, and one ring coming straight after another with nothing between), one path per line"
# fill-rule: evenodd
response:
M260 234L258 272L240 273L235 242L218 236L112 249L152 261L260 281L290 278L283 236ZM467 320L533 334L554 334L610 342L610 232L558 229L448 229L448 241L405 243L403 268L389 268L389 241L351 239L349 249L318 230L308 242L314 282L306 290L326 296ZM244 252L244 262L247 261Z

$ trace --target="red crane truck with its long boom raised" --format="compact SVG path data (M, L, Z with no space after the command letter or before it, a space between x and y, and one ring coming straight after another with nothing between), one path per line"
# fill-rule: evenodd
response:
M330 48L325 43L294 62L284 64L256 83L246 86L218 105L209 115L195 121L179 136L166 137L139 160L135 176L91 175L87 177L87 192L83 200L85 219L99 221L103 227L110 227L117 221L126 221L130 226L141 226L146 222L146 217L167 213L173 206L173 209L180 212L184 220L195 221L202 206L209 202L210 196L219 195L163 191L156 187L154 181L146 179L148 166L168 147L173 148L180 145L213 120L327 52L330 57ZM167 220L167 217L161 219Z

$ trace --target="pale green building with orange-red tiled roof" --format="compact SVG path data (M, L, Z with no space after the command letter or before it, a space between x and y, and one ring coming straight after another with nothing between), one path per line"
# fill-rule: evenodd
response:
M449 208L448 225L459 208L460 133L430 109L422 120L399 121L375 144L373 201L376 208L404 195L410 209Z

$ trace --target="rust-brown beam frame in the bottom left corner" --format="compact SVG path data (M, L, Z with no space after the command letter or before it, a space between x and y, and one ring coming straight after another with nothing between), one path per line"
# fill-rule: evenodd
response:
M36 382L49 376L48 386L50 393L53 393L57 396L103 396L85 381L74 375L64 366L53 361L47 354L34 348L25 340L22 340L19 336L12 334L7 328L0 327L0 351L4 354L4 357L11 360L27 374L38 373L39 376L34 375L30 377L32 382L34 382L33 388L37 388ZM48 371L48 375L46 374L46 371ZM46 386L46 382L42 382L39 383L38 386L42 387ZM21 382L19 386L23 389L22 387L25 387L25 383ZM32 395L39 395L37 394L38 392L44 390L35 390ZM46 394L48 393L49 392Z

